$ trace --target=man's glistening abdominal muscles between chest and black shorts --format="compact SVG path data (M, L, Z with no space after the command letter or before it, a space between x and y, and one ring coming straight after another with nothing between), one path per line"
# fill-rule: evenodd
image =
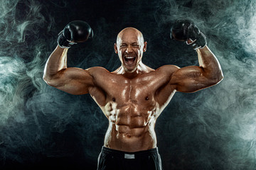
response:
M119 111L114 109L107 112L110 124L105 135L105 147L125 152L156 147L155 113L138 113L135 110L132 106L126 106Z

